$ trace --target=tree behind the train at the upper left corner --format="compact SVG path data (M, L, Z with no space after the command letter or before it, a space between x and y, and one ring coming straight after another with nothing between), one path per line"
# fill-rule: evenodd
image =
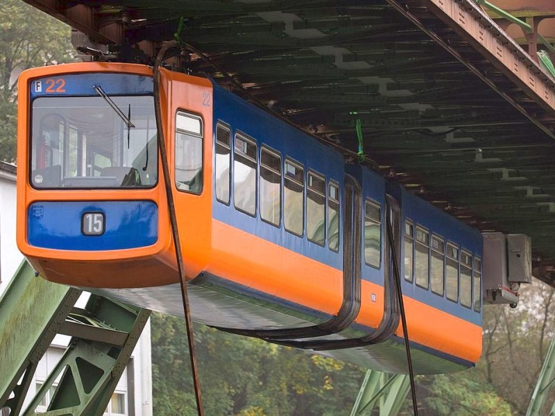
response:
M21 0L0 3L0 159L15 161L17 76L73 60L71 28Z

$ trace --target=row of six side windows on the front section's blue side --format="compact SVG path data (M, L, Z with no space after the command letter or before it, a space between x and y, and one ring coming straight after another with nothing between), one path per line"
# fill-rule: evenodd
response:
M258 153L256 141L241 133L235 134L232 146L231 130L221 124L216 126L214 169L219 202L230 204L233 180L233 202L239 211L256 216L259 193L259 215L266 223L280 227L283 221L291 234L302 236L306 231L307 239L321 246L325 245L327 235L330 250L339 250L339 184L336 182L330 181L326 187L323 175L314 171L305 175L305 167L289 157L282 164L280 153L266 146Z

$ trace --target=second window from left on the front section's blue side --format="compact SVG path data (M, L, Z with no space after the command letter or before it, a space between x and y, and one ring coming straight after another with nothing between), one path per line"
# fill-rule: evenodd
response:
M253 139L235 135L233 161L233 200L235 208L256 214L257 149Z

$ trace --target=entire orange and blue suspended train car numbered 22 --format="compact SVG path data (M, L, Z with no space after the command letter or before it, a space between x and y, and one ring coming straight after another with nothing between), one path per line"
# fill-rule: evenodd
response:
M476 363L479 232L210 79L160 74L157 97L137 64L20 76L17 243L42 277L182 314L163 129L194 320L407 372L398 277L415 372Z

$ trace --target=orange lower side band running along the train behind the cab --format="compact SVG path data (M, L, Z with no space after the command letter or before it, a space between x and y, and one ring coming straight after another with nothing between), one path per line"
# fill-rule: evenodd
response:
M207 271L330 315L336 314L341 306L341 270L217 220L212 224L212 261ZM371 302L371 294L377 295L376 302ZM468 361L478 360L481 327L411 297L404 296L404 304L413 342ZM355 322L375 328L382 320L383 311L383 286L363 280L361 311ZM397 335L402 336L401 324Z

